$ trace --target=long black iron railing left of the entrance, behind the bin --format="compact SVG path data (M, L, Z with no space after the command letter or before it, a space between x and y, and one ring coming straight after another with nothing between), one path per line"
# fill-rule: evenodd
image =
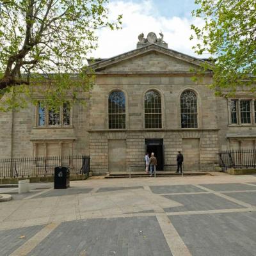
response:
M90 172L90 156L0 159L0 178L51 176L56 166L68 166L71 174L86 174Z

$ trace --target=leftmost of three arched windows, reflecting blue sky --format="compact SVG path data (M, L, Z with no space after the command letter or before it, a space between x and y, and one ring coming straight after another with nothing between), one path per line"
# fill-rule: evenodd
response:
M109 129L125 129L125 95L123 92L111 92L108 97Z

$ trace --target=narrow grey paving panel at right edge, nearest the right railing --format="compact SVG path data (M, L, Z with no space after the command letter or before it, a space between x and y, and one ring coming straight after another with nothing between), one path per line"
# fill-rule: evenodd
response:
M236 191L236 190L256 190L256 187L241 183L225 183L225 184L200 184L205 188L214 191Z

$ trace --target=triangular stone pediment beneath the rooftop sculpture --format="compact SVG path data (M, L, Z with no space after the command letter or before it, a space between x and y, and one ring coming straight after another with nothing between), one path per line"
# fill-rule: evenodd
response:
M90 65L95 72L189 72L203 60L151 44Z

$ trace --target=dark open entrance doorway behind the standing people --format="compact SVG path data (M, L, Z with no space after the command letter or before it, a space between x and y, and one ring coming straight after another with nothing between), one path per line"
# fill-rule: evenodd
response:
M151 153L154 152L157 159L157 171L162 171L164 167L164 157L163 157L163 139L145 139L146 152L148 152L149 157Z

